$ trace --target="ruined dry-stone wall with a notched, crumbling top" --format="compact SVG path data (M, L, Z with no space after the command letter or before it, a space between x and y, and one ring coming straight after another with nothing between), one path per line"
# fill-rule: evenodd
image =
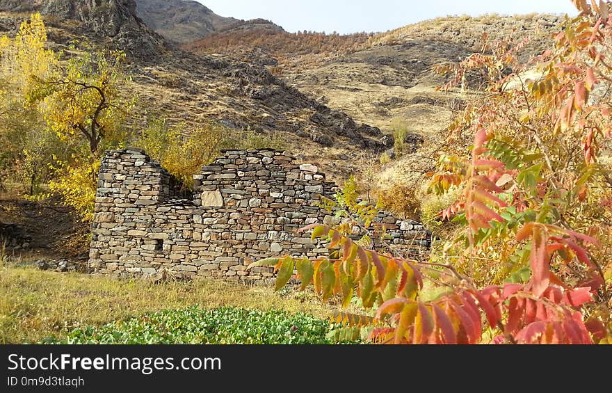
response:
M179 199L172 176L143 150L106 152L92 223L89 269L121 278L201 275L264 284L272 268L251 262L280 255L329 255L323 243L296 230L311 223L335 224L317 206L333 198L337 185L316 166L296 165L284 152L225 150L194 178L193 198ZM191 197L191 195L190 195ZM414 221L380 212L385 241L403 253L430 246L430 233ZM376 246L382 246L375 239Z

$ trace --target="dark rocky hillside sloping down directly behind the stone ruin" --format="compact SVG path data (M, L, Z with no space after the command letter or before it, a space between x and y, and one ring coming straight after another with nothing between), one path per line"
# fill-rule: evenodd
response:
M214 119L236 132L247 128L275 132L294 156L316 161L339 176L353 171L346 157L360 148L380 152L389 145L380 129L357 124L287 85L264 66L228 56L197 56L166 44L134 15L134 0L0 0L0 34L14 35L24 13L31 10L46 15L49 38L59 48L80 38L132 55L129 70L134 86L128 90L138 94L136 127L147 118L163 116L191 125Z

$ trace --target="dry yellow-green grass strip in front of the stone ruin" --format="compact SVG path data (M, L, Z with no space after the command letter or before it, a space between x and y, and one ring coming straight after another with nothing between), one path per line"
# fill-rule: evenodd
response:
M193 305L307 313L323 319L335 309L308 291L274 292L210 280L154 284L0 264L0 344L40 342L64 337L77 327Z

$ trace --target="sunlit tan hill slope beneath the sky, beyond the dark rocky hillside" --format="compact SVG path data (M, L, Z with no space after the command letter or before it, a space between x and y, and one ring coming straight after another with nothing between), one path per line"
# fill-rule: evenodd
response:
M376 35L225 31L185 48L198 54L240 54L245 61L267 64L290 86L385 133L398 124L395 119L404 120L408 132L424 136L425 144L418 154L387 165L377 181L405 177L412 183L414 174L433 163L422 157L437 156L453 113L470 99L436 91L444 79L433 66L481 51L484 33L490 42L528 39L522 50L526 60L552 42L561 20L536 14L442 17Z

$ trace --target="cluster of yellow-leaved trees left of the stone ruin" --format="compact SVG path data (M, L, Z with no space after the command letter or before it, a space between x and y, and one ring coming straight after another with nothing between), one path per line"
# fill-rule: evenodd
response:
M30 193L50 180L49 189L88 220L102 150L127 139L135 99L125 55L80 43L65 56L48 46L40 14L15 38L0 39L0 170L16 169Z

